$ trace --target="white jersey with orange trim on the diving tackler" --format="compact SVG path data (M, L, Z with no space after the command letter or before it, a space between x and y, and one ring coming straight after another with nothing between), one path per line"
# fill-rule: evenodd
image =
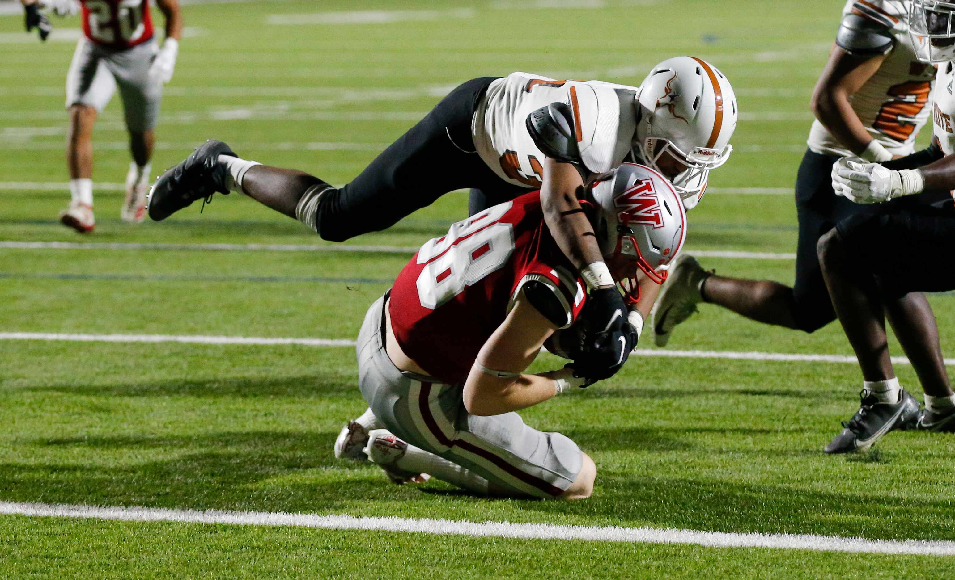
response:
M584 166L602 174L630 153L637 129L638 89L602 81L555 80L511 73L491 83L477 104L471 131L481 159L501 179L541 187L543 160L527 132L527 115L554 102L574 114L574 132Z

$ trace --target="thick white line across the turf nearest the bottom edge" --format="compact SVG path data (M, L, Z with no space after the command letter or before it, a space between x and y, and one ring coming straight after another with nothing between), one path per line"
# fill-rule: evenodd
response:
M583 540L628 544L690 544L707 548L812 549L877 554L955 555L955 542L867 540L810 534L764 534L697 531L672 528L617 528L466 522L397 517L354 517L262 511L167 509L161 507L95 507L0 502L0 514L67 517L120 522L181 522L283 528L363 529L435 535L539 540Z

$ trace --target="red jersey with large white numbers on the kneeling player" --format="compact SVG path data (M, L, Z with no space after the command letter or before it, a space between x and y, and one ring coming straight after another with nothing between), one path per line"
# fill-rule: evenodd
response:
M525 194L421 246L394 281L394 336L429 375L463 383L524 283L542 282L564 307L563 327L573 323L586 293L572 272L544 224L540 192Z

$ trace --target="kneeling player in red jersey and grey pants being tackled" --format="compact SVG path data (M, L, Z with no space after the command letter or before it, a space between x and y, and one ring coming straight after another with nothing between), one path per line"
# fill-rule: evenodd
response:
M645 287L662 281L656 269L686 237L683 204L670 183L626 163L585 197L590 234L614 279L639 278ZM399 484L430 474L479 494L589 496L593 461L570 439L524 425L515 412L611 376L636 342L629 324L579 332L587 299L584 280L572 271L544 223L540 192L426 242L366 315L357 352L370 408L342 430L335 455L367 454ZM525 374L558 330L580 339L559 341L570 345L574 362Z

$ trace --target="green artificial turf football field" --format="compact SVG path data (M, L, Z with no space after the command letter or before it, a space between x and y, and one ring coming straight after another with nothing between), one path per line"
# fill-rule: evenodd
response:
M741 111L735 152L689 215L690 252L794 252L793 198L734 192L792 188L842 3L574 4L185 6L154 171L216 137L246 158L344 183L468 78L527 71L638 84L657 61L690 53L727 74ZM397 9L432 11L382 24L267 24L269 15ZM79 21L53 24L68 35ZM237 196L217 197L202 215L197 204L159 224L121 222L122 192L110 184L125 177L129 155L117 99L95 135L95 179L106 184L96 190L96 234L65 230L56 214L69 198L62 101L74 41L54 31L40 45L21 26L19 15L0 17L0 241L325 244ZM463 194L450 194L350 243L417 246L466 209ZM0 332L349 340L407 259L2 248ZM721 274L794 277L785 257L701 261ZM946 347L955 298L931 301ZM810 336L706 306L669 348L851 354L838 324ZM898 372L921 399L911 367ZM853 364L634 357L610 381L523 412L594 458L594 495L572 505L477 499L440 482L394 487L371 464L336 462L339 428L365 408L356 380L349 347L0 341L0 502L955 540L955 437L892 433L865 455L823 455L858 406ZM0 562L3 577L51 578L955 574L955 559L934 556L25 516L0 517Z

